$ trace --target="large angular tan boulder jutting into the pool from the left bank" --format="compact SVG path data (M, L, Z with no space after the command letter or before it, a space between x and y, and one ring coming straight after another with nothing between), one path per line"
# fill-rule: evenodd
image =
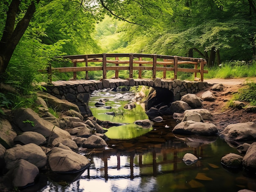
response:
M58 147L49 154L49 166L54 172L79 172L90 164L85 156Z

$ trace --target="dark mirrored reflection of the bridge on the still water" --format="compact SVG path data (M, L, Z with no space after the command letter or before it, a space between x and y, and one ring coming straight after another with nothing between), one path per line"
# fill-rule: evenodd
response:
M104 163L104 166L101 165L97 169L104 170L106 181L108 179L123 177L130 179L134 179L135 177L156 177L158 174L177 173L183 170L189 170L192 167L188 167L182 162L184 154L190 152L198 157L198 159L203 158L204 144L216 141L217 137L217 135L212 137L175 136L169 128L157 128L135 139L110 139L108 141L108 147L110 149L96 153L94 151L94 157L100 158ZM122 159L120 157L122 156L128 157L127 161L129 163L127 162L127 164L129 166L121 166ZM93 159L92 157L90 158ZM110 166L108 165L109 163ZM115 165L113 166L113 164ZM200 167L200 161L195 163L195 166ZM129 175L111 175L109 177L109 169L121 170L124 168L130 169ZM134 175L134 169L137 168L139 168L140 173L139 175ZM147 171L143 172L144 169ZM90 169L88 169L87 177L88 179L93 179L97 176L90 176Z

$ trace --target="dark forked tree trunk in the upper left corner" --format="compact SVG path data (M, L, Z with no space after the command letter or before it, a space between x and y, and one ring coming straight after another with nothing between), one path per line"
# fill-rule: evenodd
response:
M40 0L37 0L37 3L39 1ZM14 29L19 5L20 0L12 0L7 11L4 33L0 41L0 74L3 74L7 69L13 51L15 50L18 42L22 38L22 35L25 33L31 18L36 11L36 6L34 4L34 1L32 1L27 8L24 17L17 23Z

